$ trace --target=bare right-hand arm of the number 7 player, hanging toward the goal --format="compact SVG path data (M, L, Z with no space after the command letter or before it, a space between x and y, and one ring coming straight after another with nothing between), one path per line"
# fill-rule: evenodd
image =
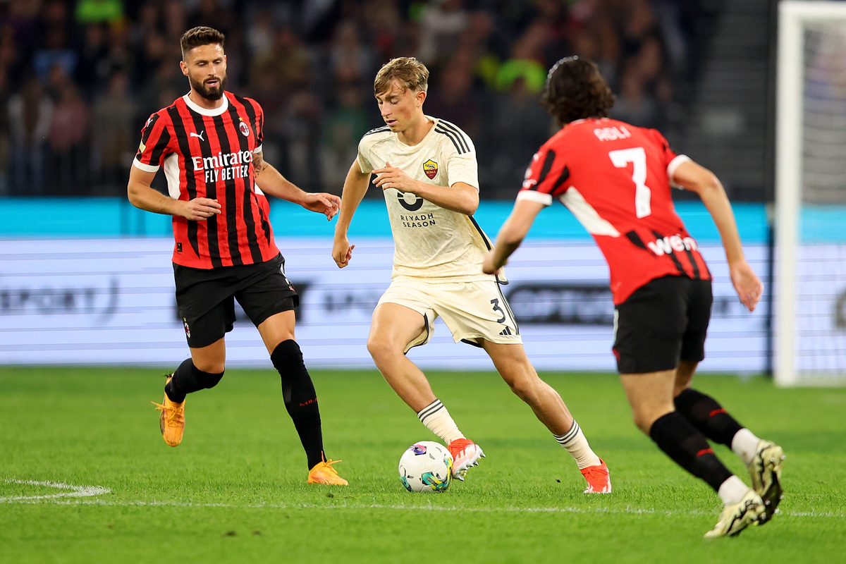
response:
M693 161L678 165L673 173L673 180L682 188L699 194L714 224L717 225L717 231L720 232L734 290L746 309L754 311L758 300L761 299L764 285L746 262L732 205L728 202L722 183L713 172Z

